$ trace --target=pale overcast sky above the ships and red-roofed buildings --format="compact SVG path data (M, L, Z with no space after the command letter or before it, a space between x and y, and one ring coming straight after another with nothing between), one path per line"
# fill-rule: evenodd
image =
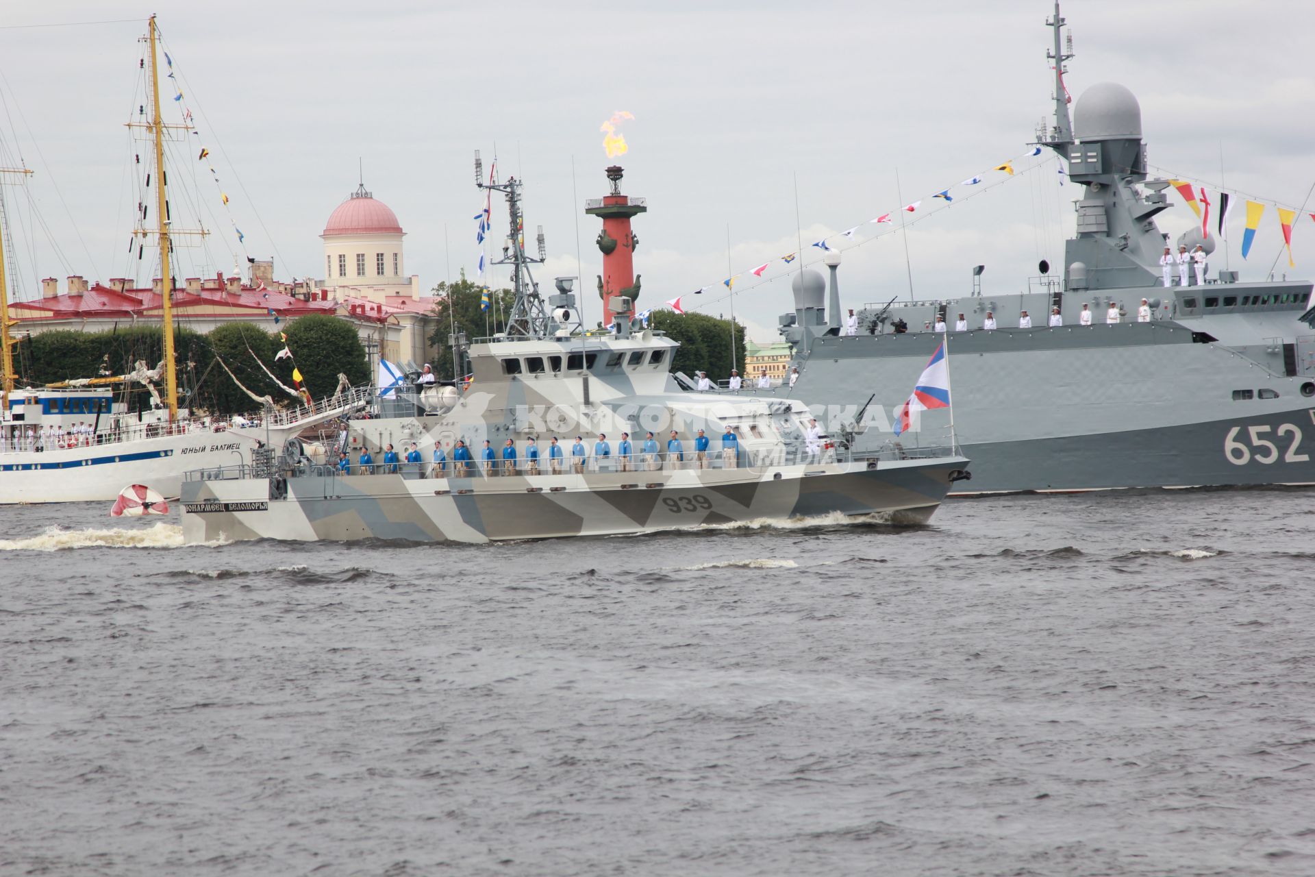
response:
M831 239L843 305L857 306L964 295L976 264L986 266L984 292L1020 291L1040 259L1061 263L1073 231L1080 187L1059 184L1049 153L1019 158L1053 112L1043 0L67 0L8 9L0 24L0 166L21 158L36 171L25 191L5 188L17 298L36 297L43 276L150 272L126 246L145 145L124 124L139 101L151 12L199 128L174 147L193 195L172 179L171 189L201 205L212 231L180 255L178 276L230 272L243 256L274 258L283 280L322 275L318 235L356 188L358 162L406 230L406 272L423 289L473 276L481 150L485 168L496 154L525 180L526 225L547 237L535 277L583 276L594 322L600 225L583 206L606 192L600 124L617 110L634 114L619 129L630 146L615 159L622 191L648 202L635 220L639 306L677 295L711 314L734 305L759 342L793 308L800 262L778 256L818 262L810 245L825 235L860 226ZM1099 82L1131 88L1153 172L1315 210L1315 78L1301 60L1315 4L1069 0L1063 14L1076 53L1069 91L1080 100ZM218 188L195 160L197 143ZM1013 178L989 171L1006 159L1018 159ZM930 200L973 175L986 180L973 197ZM868 222L919 199L902 231ZM1157 221L1177 235L1194 217L1170 200ZM1273 206L1243 262L1241 213L1228 267L1244 279L1312 273L1304 212L1295 268L1279 259ZM505 216L494 204L498 226ZM764 262L761 279L747 273ZM719 285L732 272L734 298ZM693 295L704 287L714 288Z

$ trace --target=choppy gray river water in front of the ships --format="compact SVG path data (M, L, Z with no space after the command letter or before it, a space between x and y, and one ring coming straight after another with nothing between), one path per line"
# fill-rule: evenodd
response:
M1312 498L490 547L0 510L0 874L1315 873Z

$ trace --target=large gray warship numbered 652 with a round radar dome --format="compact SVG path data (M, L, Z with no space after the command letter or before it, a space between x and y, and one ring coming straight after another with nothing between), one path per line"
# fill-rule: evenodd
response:
M1047 26L1055 122L1036 142L1082 187L1063 276L1043 262L1016 295L869 302L856 309L857 334L848 334L839 258L830 256L828 306L821 273L796 277L796 310L781 317L780 331L798 379L775 392L884 418L945 337L953 426L973 459L972 481L952 494L1315 483L1311 283L1241 283L1236 272L1207 271L1201 285L1190 276L1189 285L1174 277L1165 288L1159 258L1170 242L1155 217L1170 206L1169 181L1148 179L1140 105L1123 85L1097 84L1070 120L1060 78L1073 53L1061 42L1057 3ZM1198 243L1214 251L1214 235L1199 229L1173 249ZM1091 325L1081 325L1084 305ZM1048 325L1052 308L1063 325ZM1118 322L1107 322L1111 309ZM1035 327L1016 327L1024 310ZM999 326L993 331L984 329L988 312ZM967 331L953 330L959 314ZM948 335L922 330L938 318ZM947 419L923 412L920 435L942 435ZM919 433L901 439L917 444ZM881 437L869 429L857 447Z

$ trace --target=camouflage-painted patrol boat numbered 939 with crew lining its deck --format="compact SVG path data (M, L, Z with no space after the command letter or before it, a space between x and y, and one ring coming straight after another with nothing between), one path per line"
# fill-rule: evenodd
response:
M515 300L506 333L472 343L454 333L466 362L458 373L472 379L376 398L372 417L350 421L345 444L358 456L342 467L293 439L188 472L185 542L483 543L819 515L923 523L968 477L968 460L952 450L855 451L856 434L831 440L798 400L681 392L669 373L677 343L644 329L630 298L614 301L614 331L586 333L573 277L540 296L530 264L542 256L526 256L518 234L519 181L489 188L506 195L512 213L514 252L505 259ZM700 431L710 439L704 450ZM622 433L634 437L630 452ZM660 442L647 444L648 433ZM719 440L727 434L730 447ZM551 455L554 439L576 435L593 452ZM500 451L492 460L476 450L485 442ZM380 460L389 446L418 459ZM501 452L508 447L514 459Z

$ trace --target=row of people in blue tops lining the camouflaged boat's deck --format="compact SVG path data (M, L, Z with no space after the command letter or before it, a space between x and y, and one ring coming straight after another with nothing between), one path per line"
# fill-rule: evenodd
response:
M556 435L546 446L535 437L529 437L525 444L506 439L502 447L494 448L489 439L483 447L472 451L464 439L455 444L435 443L431 459L425 465L419 446L414 442L400 455L392 443L387 443L381 459L376 463L370 448L362 448L355 463L347 450L338 452L335 468L341 475L398 475L414 473L419 477L472 477L497 475L564 475L568 472L656 472L659 469L734 469L740 463L739 437L727 426L719 437L718 446L704 430L697 430L693 447L686 451L676 430L671 431L665 447L654 433L646 433L644 439L631 440L630 433L622 433L621 440L613 448L605 433L593 440L592 448L583 435L567 447Z

